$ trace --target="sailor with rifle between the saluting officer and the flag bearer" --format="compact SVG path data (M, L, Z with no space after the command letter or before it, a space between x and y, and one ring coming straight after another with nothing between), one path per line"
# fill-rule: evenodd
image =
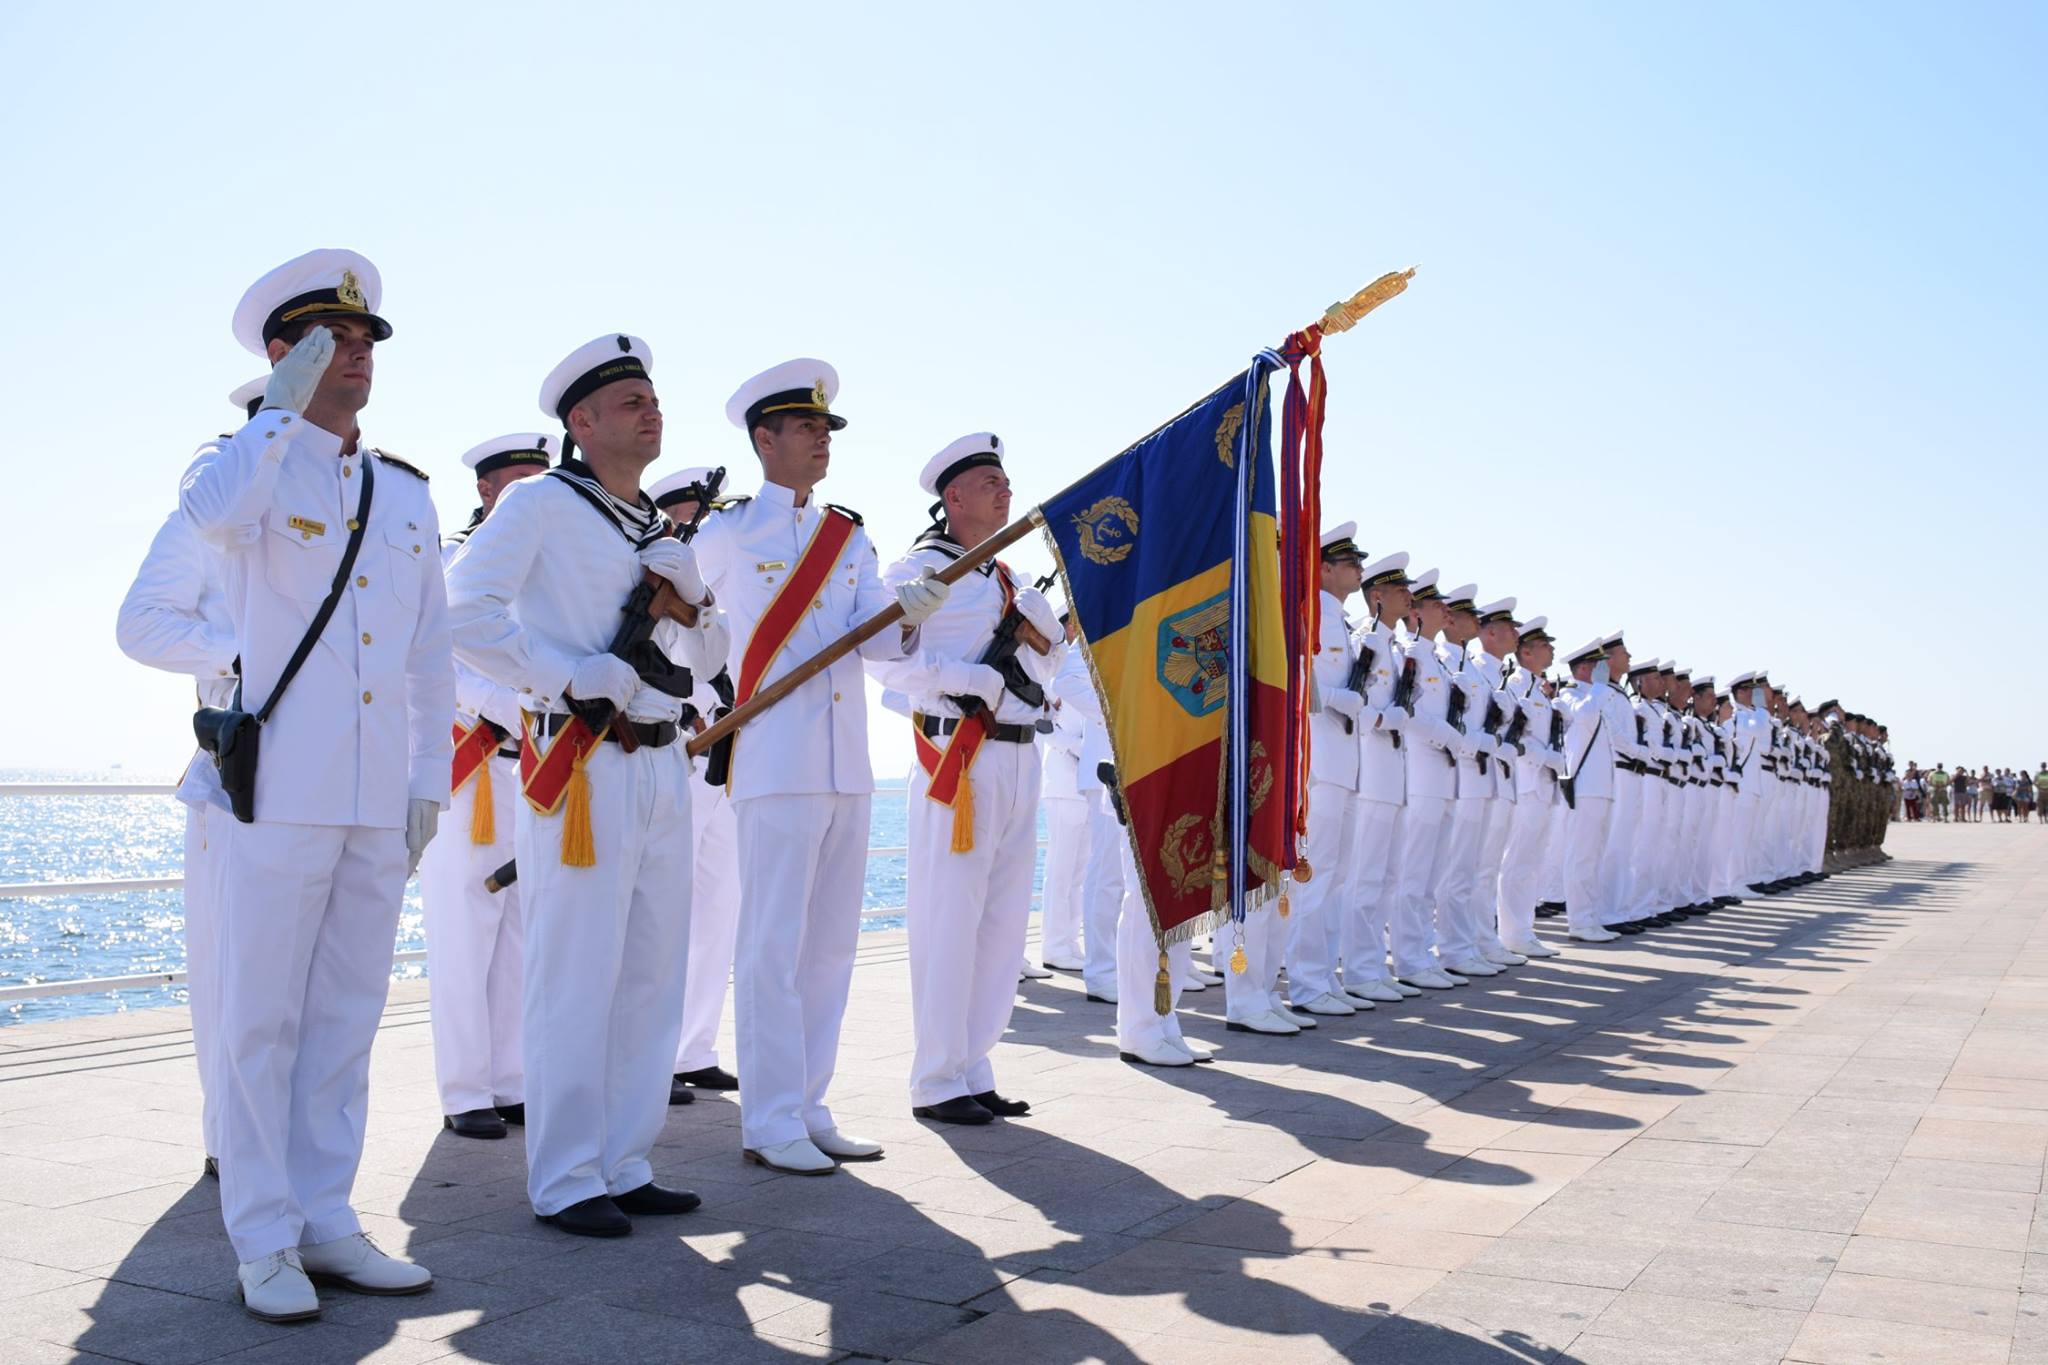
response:
M668 1117L690 943L690 765L678 716L725 620L641 473L662 454L653 354L600 336L541 385L563 460L508 487L449 565L461 659L518 690L526 892L526 1197L578 1236L686 1214L647 1160ZM582 458L569 454L582 450ZM647 575L690 608L612 653Z

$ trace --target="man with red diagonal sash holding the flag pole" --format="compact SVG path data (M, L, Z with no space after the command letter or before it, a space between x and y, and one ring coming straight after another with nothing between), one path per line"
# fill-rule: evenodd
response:
M705 577L733 622L733 690L745 704L891 602L903 624L860 647L870 661L918 649L918 626L946 585L883 587L860 516L815 497L831 469L840 375L788 360L739 385L725 415L762 463L762 487L696 532ZM842 1134L825 1107L860 937L866 882L868 698L860 659L842 657L748 722L729 749L739 823L739 1142L748 1160L829 1175L881 1144ZM1004 968L1016 980L1016 956Z

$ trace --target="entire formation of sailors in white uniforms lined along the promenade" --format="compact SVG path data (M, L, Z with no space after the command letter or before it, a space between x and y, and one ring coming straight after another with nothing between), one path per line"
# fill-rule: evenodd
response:
M1126 1058L1206 1060L1141 986L1155 950L1071 628L1001 563L938 577L1010 518L995 436L932 456L934 524L885 569L858 514L815 495L846 426L829 364L739 385L727 415L762 483L707 508L713 471L643 487L662 452L653 354L608 334L543 381L559 432L465 456L479 508L442 544L426 475L360 436L391 336L379 307L375 266L342 250L250 287L233 332L270 372L236 395L246 426L186 467L119 622L123 649L195 677L201 706L274 706L254 819L233 819L205 755L180 786L205 1142L248 1312L317 1316L315 1281L432 1283L350 1207L414 870L444 1124L467 1138L524 1126L543 1222L623 1236L696 1207L649 1164L666 1107L694 1089L737 1087L741 1152L762 1166L829 1175L883 1154L827 1105L874 792L870 675L918 753L911 1111L989 1124L1030 1109L997 1091L989 1054L1016 997L1047 782L1053 806L1069 802L1053 819L1049 962L1116 1003ZM1307 849L1327 872L1298 886L1288 921L1245 925L1245 970L1221 974L1233 1029L1296 1031L1554 952L1532 929L1538 902L1561 898L1552 878L1575 937L1606 937L1815 872L1825 798L1798 788L1817 765L1765 716L1761 679L1739 679L1733 720L1710 726L1657 684L1634 702L1602 686L1595 667L1665 677L1630 669L1614 636L1575 655L1581 681L1550 698L1540 620L1411 581L1405 557L1360 561L1350 528L1327 538ZM1372 616L1354 634L1341 604L1362 585ZM621 645L621 604L649 593L674 606ZM686 755L709 718L889 606L899 624L723 749ZM1636 733L1638 704L1647 724L1675 724ZM1503 735L1495 706L1528 714ZM1651 765L1700 798L1651 794ZM1581 814L1559 817L1561 776L1579 780ZM1796 833L1765 837L1780 827ZM1655 855L1651 831L1694 853ZM1573 860L1593 847L1597 882ZM1176 986L1219 984L1186 945L1171 960ZM715 1052L727 980L735 1070Z

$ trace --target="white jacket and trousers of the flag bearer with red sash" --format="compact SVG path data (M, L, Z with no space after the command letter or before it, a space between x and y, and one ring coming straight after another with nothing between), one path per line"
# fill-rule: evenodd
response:
M690 544L731 620L735 684L762 612L823 516L825 503L815 495L797 505L793 489L768 483L698 526ZM874 544L854 526L811 610L803 612L760 686L893 602L877 569ZM915 645L915 632L905 641L899 630L883 630L860 647L860 657L842 657L735 737L729 778L739 825L733 1021L743 1081L739 1140L748 1150L836 1128L825 1091L854 976L874 798L860 659L901 659ZM1014 986L1016 960L1008 972Z

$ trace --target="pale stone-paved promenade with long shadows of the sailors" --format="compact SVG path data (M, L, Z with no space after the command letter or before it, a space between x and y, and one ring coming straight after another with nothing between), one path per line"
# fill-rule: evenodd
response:
M1896 862L1298 1040L1116 1060L1075 980L997 1070L1036 1113L907 1117L901 939L864 939L836 1107L889 1158L655 1152L705 1209L535 1224L522 1152L446 1138L393 993L356 1183L430 1295L246 1318L197 1179L184 1017L0 1029L0 1359L2048 1361L2048 831L1898 827ZM1548 921L1546 921L1548 923Z

